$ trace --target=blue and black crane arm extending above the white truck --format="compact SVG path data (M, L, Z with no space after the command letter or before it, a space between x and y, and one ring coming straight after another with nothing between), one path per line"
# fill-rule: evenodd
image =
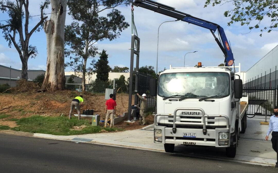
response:
M143 7L148 10L152 10L154 12L158 12L160 14L170 16L173 18L176 18L177 20L182 20L184 22L188 22L190 24L194 24L206 29L209 29L212 35L215 38L215 41L219 45L220 49L224 53L224 63L225 66L232 66L234 64L234 55L232 53L231 47L229 45L229 42L227 40L227 37L225 35L224 29L220 27L218 24L199 19L197 17L193 17L190 14L186 14L180 11L175 10L175 8L152 1L152 0L135 0L133 2L133 5L136 7ZM218 31L220 34L221 42L218 40L218 38L215 36L215 31Z

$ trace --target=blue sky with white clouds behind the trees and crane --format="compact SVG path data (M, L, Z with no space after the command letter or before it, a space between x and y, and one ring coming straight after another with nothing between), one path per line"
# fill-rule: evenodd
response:
M229 18L223 16L224 11L230 9L232 4L224 4L222 6L203 8L205 0L158 0L163 4L175 7L176 10L191 14L192 16L209 20L222 26L230 41L232 51L234 53L235 65L241 63L242 70L248 70L266 53L278 44L278 32L264 32L262 37L259 37L260 29L252 30L250 33L248 26L240 26L239 23L234 23L230 27L227 26ZM30 15L40 14L38 0L29 2ZM125 16L126 21L131 24L130 6L118 7ZM47 9L45 12L50 12ZM106 15L108 11L102 15ZM50 15L48 16L50 17ZM6 14L0 15L0 20L9 19ZM162 14L154 13L141 7L134 7L134 19L138 36L140 37L140 66L156 67L156 50L157 50L157 29L158 26L168 20L175 20L171 17ZM39 17L33 17L30 21L29 30L39 20ZM66 16L66 25L70 24L72 19L69 15ZM267 25L265 19L261 25ZM15 48L8 48L8 43L3 38L0 32L0 64L12 66L12 68L20 69L21 61ZM42 30L31 36L30 44L36 45L38 55L36 58L30 58L28 61L28 69L46 69L46 37ZM113 40L104 40L98 42L99 50L107 50L109 65L114 66L130 66L130 45L131 45L131 27L124 30L120 37ZM186 22L168 22L162 24L159 34L159 51L158 51L158 71L169 68L171 64L174 67L183 66L184 55L185 65L194 66L201 61L204 66L217 66L223 63L224 56L214 40L214 37L209 30L188 24ZM95 57L98 59L98 55ZM69 61L65 58L65 61ZM88 63L89 64L89 63ZM88 65L89 66L89 65ZM70 71L70 68L66 68Z

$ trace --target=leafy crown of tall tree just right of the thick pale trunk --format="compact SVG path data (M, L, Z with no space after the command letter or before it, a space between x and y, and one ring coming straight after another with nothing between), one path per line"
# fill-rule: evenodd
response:
M88 58L98 54L94 43L118 38L129 24L115 7L129 5L132 0L68 0L69 15L75 22L65 27L65 56L70 61L65 65L76 72L93 73L93 68L86 68ZM105 16L100 12L112 9ZM104 12L105 13L105 12ZM90 62L94 65L95 60ZM110 70L110 69L109 69Z

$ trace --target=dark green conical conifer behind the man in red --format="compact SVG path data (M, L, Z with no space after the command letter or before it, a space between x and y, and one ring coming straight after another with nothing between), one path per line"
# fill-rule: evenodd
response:
M96 79L99 81L108 81L110 66L108 65L108 55L106 54L106 50L102 50L100 54L100 59L95 64L95 73Z

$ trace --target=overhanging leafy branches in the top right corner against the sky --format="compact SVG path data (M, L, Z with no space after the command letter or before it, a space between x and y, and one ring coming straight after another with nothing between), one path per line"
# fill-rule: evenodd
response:
M267 32L271 32L272 30L276 30L278 25L278 1L277 0L206 0L205 7L209 4L212 6L218 4L225 4L227 2L232 2L233 8L231 10L225 11L224 16L230 17L230 22L228 25L230 26L234 22L240 22L243 25L250 25L251 21L256 21L255 24L249 27L250 30L254 28L260 28L260 25L264 25L261 27L260 36L262 36L262 32L267 30ZM267 17L268 22L261 23L262 20Z

